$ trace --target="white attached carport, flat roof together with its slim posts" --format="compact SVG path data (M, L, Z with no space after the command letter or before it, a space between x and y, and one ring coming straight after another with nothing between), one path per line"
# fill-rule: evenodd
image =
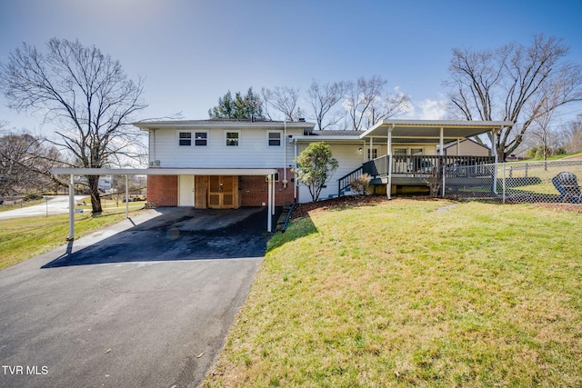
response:
M55 175L69 175L69 234L67 241L75 240L75 176L86 175L264 175L267 181L267 221L266 231L272 230L275 214L275 174L274 168L54 168ZM125 184L128 190L128 184ZM125 197L129 193L125 192ZM129 217L129 204L125 203L125 216Z

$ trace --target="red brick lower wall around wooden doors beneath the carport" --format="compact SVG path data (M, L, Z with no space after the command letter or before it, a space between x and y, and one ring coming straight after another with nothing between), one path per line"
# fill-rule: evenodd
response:
M286 202L293 202L293 172L287 169L286 188L283 185L283 169L279 172L279 182L275 183L275 205L282 206ZM265 175L242 175L239 177L238 189L241 206L262 206L267 203L268 186ZM147 202L156 206L178 205L178 177L177 175L147 175Z

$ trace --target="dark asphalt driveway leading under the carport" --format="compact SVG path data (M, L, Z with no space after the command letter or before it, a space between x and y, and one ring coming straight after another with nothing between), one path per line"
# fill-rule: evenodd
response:
M265 229L264 209L150 210L0 271L0 386L197 386Z

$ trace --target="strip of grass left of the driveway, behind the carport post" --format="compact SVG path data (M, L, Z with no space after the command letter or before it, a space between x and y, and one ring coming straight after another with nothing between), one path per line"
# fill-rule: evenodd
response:
M119 209L75 214L75 238L123 219L125 211ZM0 220L0 270L65 244L68 230L68 214Z

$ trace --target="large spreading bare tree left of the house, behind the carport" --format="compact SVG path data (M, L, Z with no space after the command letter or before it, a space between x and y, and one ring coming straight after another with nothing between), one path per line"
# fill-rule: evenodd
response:
M72 154L73 166L101 168L142 161L143 134L131 124L146 108L143 80L127 79L118 61L95 46L51 39L47 53L24 44L0 65L0 87L8 106L41 111L56 124L49 140ZM86 177L94 213L101 213L98 175Z

